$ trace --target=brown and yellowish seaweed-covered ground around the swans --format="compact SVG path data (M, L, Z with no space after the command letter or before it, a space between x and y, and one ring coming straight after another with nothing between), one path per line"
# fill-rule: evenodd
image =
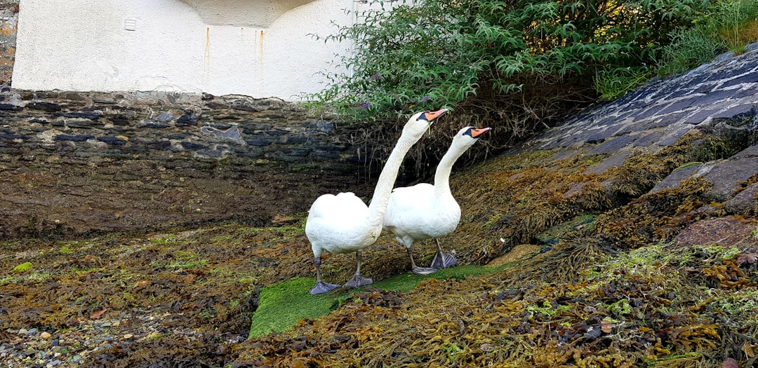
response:
M303 307L299 322L251 338L267 295L313 281L305 214L5 242L0 366L753 366L755 195L735 207L702 177L659 186L744 148L692 130L606 170L607 155L557 149L456 168L462 221L442 245L461 267L393 288L409 264L385 233L364 254L374 287L332 292L319 313L291 294L306 307L280 313ZM354 265L327 257L324 279Z

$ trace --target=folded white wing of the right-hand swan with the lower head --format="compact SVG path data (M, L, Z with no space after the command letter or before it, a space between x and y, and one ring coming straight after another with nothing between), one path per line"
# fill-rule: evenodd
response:
M428 183L395 188L384 212L384 227L402 226L410 218L424 216L434 204L434 186Z

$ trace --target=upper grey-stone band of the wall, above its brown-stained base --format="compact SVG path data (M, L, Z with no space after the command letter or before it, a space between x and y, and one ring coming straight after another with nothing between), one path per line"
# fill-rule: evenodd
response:
M342 162L347 170L358 161L331 121L274 98L14 91L0 100L4 153Z

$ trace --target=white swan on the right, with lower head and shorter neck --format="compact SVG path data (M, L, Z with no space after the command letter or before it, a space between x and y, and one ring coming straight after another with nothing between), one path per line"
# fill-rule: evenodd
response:
M390 195L390 203L384 214L384 229L393 232L397 241L406 246L413 273L425 275L457 263L453 254L442 251L437 239L453 232L461 220L461 207L450 192L450 170L458 157L488 130L490 128L477 129L474 126L459 130L437 165L434 186L421 183L396 188ZM416 267L411 246L413 242L429 238L437 241L437 253L434 254L431 268Z

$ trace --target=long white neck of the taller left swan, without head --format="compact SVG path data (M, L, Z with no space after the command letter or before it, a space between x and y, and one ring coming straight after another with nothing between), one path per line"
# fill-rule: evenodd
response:
M377 186L374 188L371 204L368 204L369 223L381 226L384 212L387 211L387 204L390 203L390 194L392 193L393 186L395 186L397 172L400 170L402 160L406 157L406 154L415 142L418 142L418 139L400 136L390 157L387 157L387 162L384 163L384 168L381 170L381 174L379 174Z

